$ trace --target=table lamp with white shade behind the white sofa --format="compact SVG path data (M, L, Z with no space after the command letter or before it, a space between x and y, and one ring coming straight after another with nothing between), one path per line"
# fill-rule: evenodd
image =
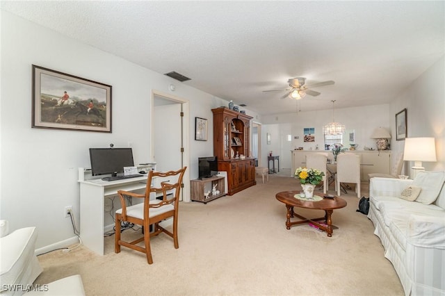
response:
M437 161L435 138L405 138L403 160L414 161L411 167L411 178L414 179L417 173L425 171L422 161Z

